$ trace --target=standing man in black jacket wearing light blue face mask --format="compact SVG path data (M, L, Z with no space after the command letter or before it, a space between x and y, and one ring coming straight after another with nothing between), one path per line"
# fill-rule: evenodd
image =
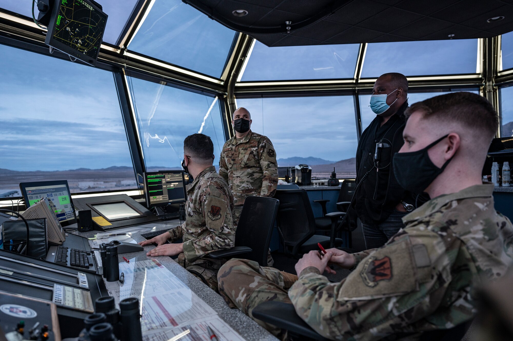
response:
M362 221L367 249L384 245L404 226L401 219L408 211L424 202L398 184L391 164L404 142L407 93L408 80L400 73L385 73L376 80L370 108L377 116L358 143L356 181L365 180L357 191L354 209Z

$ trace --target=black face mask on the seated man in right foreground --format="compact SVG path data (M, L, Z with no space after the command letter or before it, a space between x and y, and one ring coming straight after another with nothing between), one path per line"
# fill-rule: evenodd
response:
M438 168L429 158L427 151L447 136L449 135L439 138L420 151L394 154L393 172L401 187L420 194L444 171L454 155L445 161L442 168Z

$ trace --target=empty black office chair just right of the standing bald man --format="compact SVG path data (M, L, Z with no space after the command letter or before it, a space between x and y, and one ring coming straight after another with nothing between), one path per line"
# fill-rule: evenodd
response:
M278 208L278 232L284 243L285 253L299 258L300 253L319 250L317 243L329 248L330 239L315 235L315 219L306 190L277 190L275 199L280 200ZM340 215L344 215L340 213ZM339 216L340 217L340 216ZM334 246L342 245L342 239L334 238Z

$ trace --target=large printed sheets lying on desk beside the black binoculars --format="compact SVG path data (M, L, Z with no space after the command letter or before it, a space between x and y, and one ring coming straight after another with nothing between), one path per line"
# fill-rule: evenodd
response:
M209 339L208 327L222 341L243 341L222 318L169 269L155 259L120 263L123 284L107 282L116 305L127 297L141 302L141 328L145 341L168 341L178 335Z

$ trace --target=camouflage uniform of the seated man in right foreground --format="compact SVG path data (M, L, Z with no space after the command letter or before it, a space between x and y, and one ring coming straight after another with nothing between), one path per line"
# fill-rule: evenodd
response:
M417 339L451 328L475 314L472 288L502 276L513 257L513 226L495 211L493 188L476 185L428 201L384 246L354 253L354 270L340 283L308 267L286 291L278 270L231 260L218 273L220 293L249 316L265 301L292 303L330 339Z

